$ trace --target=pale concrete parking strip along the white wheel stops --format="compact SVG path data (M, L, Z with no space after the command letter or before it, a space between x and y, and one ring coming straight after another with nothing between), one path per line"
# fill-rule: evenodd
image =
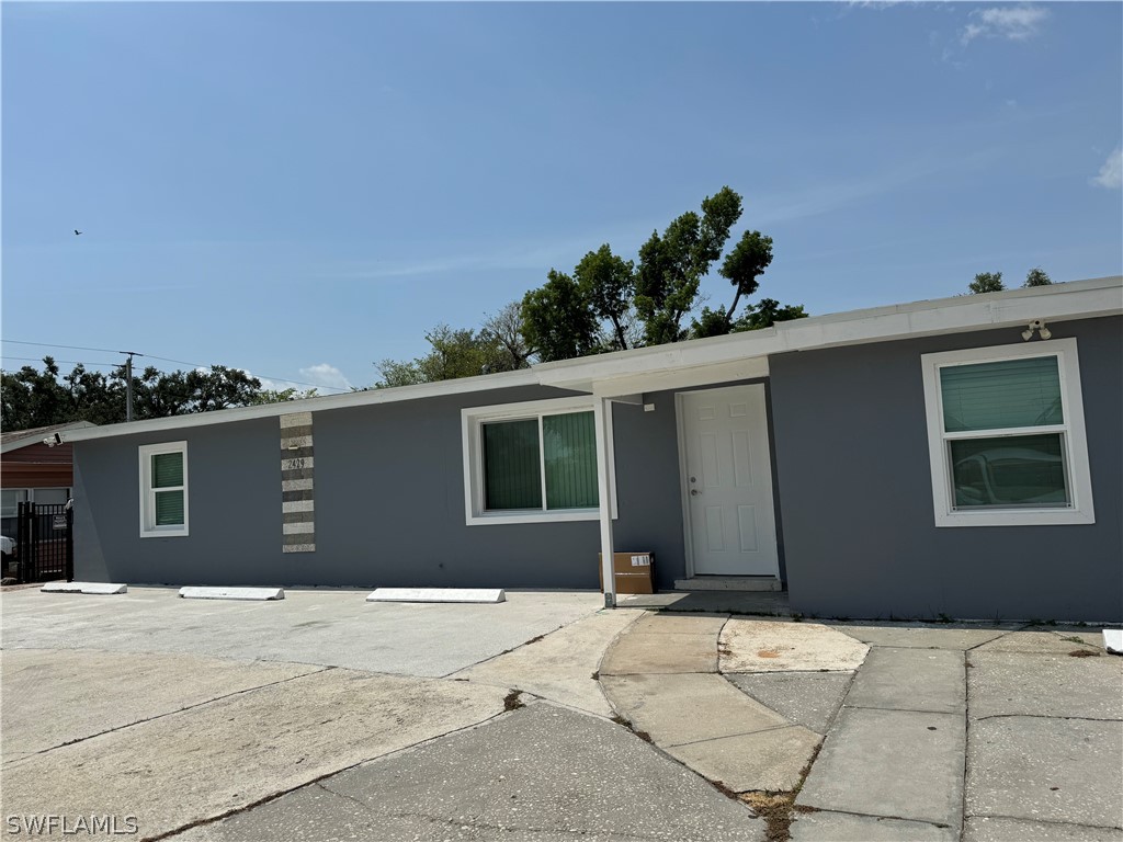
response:
M603 606L593 592L509 591L499 605L367 603L368 591L289 589L280 602L181 600L130 587L112 600L3 595L6 649L199 655L446 676Z

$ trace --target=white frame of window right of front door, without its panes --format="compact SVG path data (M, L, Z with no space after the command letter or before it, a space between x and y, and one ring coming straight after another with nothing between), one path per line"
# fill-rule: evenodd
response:
M975 511L955 509L948 442L956 439L1025 434L1029 428L946 432L943 429L940 369L957 365L1050 356L1057 357L1065 422L1041 427L1039 431L1061 434L1066 483L1068 484L1070 502L1057 506L987 507ZM928 448L932 469L932 501L937 527L1037 527L1096 522L1092 504L1092 472L1088 463L1088 441L1084 429L1084 397L1080 392L1080 366L1075 338L923 354L921 355L921 366L924 379L924 410L928 417Z

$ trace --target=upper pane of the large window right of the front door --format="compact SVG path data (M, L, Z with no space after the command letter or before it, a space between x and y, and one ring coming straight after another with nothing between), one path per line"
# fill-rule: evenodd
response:
M1065 423L1057 357L940 369L947 432Z

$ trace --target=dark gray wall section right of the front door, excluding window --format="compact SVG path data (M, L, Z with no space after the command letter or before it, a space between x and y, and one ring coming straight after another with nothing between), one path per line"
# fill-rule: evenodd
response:
M819 616L1123 616L1123 320L1076 337L1096 523L937 529L920 355L1020 342L1014 329L773 357L793 610Z

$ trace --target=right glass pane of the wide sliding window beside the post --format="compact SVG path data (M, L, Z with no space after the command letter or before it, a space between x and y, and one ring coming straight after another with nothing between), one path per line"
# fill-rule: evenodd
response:
M596 424L592 412L542 418L547 509L594 509Z

